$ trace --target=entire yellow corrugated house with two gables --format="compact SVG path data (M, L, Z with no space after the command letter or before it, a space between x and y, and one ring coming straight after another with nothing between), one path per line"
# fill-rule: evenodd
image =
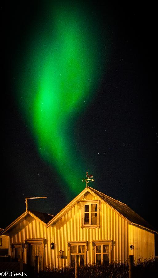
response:
M154 229L126 204L86 187L56 216L26 210L2 231L9 255L39 268L154 258Z

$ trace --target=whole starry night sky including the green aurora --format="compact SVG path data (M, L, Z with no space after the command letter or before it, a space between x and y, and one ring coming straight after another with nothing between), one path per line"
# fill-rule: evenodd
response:
M26 197L47 196L28 207L57 214L88 171L89 186L158 229L155 10L106 1L2 7L0 228L24 212Z

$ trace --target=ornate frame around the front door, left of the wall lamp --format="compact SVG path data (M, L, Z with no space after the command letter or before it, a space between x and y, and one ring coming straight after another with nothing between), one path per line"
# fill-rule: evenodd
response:
M41 251L41 270L44 268L44 248L45 248L45 239L44 238L34 238L34 239L26 239L25 240L25 248L26 248L26 264L28 263L28 251L29 251L29 245L30 244L36 244L42 246Z

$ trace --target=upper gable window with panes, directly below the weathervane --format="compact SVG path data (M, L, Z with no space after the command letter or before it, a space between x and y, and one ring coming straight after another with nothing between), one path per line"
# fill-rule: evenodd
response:
M99 201L83 201L81 212L81 226L91 227L99 225Z

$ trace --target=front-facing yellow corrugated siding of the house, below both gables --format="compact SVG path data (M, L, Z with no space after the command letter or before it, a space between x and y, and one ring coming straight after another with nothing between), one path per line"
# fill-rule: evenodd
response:
M83 200L96 200L90 193ZM10 244L25 242L25 239L45 238L47 243L44 250L44 266L66 266L68 264L68 242L88 241L87 262L93 263L92 241L112 240L112 260L126 261L128 259L128 222L104 203L100 203L100 227L81 228L80 203L73 206L52 227L46 227L41 222L28 216L10 232ZM55 249L50 249L50 243ZM57 258L59 250L64 251L65 258ZM10 249L11 255L11 249ZM26 249L24 250L24 261Z

